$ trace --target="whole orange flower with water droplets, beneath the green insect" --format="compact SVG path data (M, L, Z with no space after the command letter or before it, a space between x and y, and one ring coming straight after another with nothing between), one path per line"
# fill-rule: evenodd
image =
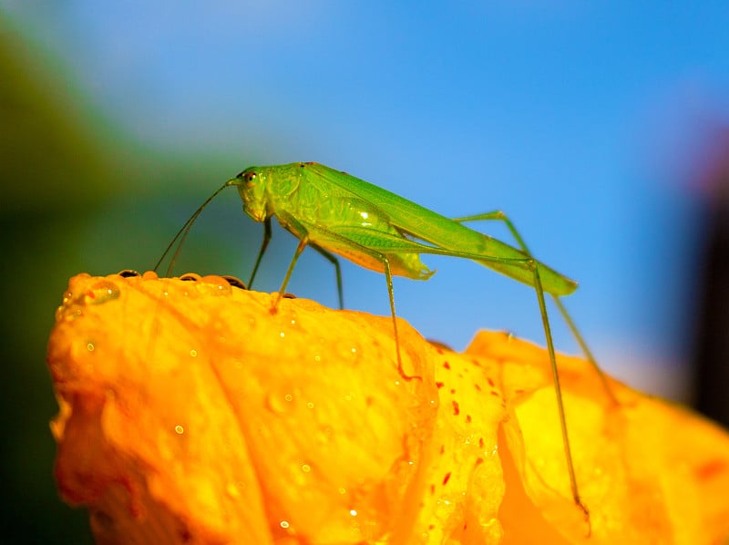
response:
M466 355L389 318L196 282L71 279L48 347L56 478L99 541L718 540L729 437L561 358L590 526L540 349ZM687 445L690 446L687 448ZM724 534L723 534L724 532ZM625 539L621 539L625 538Z

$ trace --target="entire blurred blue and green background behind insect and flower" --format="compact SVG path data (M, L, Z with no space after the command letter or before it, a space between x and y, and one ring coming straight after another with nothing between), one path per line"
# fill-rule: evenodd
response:
M90 542L86 513L57 499L47 426L46 339L67 279L149 270L252 164L323 162L447 216L506 211L540 260L580 282L565 303L601 365L700 399L697 354L726 363L725 346L698 345L717 336L702 316L729 307L705 294L729 293L727 269L709 273L729 239L716 227L727 23L723 2L0 0L5 542ZM175 272L245 281L261 236L223 193ZM278 289L294 247L274 231L256 289ZM395 301L426 337L462 350L489 328L544 344L529 288L424 261L438 273L396 279ZM337 303L316 252L289 290ZM344 297L389 312L382 276L350 263ZM577 353L557 314L553 328Z

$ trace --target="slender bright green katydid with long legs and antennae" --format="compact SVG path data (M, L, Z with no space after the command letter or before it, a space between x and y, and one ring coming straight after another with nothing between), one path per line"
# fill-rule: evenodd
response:
M400 359L392 277L396 275L414 280L427 280L433 272L420 261L420 254L430 253L472 260L532 287L537 293L539 313L547 340L549 362L557 394L562 442L570 477L570 490L575 504L582 509L585 518L589 520L588 510L580 499L572 464L560 377L544 293L549 293L553 298L578 344L601 376L608 396L613 401L615 398L590 349L560 301L560 297L575 291L577 283L535 260L505 214L494 211L448 219L395 193L318 163L297 162L270 167L250 167L226 181L202 203L169 243L155 270L175 242L180 240L170 260L168 275L171 273L193 222L210 201L222 190L231 186L238 188L245 213L252 220L263 223L263 241L253 265L249 287L255 279L263 253L271 241L273 216L276 216L284 229L299 239L299 244L283 277L272 311L278 305L282 293L285 293L293 268L307 246L311 246L334 264L340 305L343 304L343 290L337 255L367 269L384 273L393 319L398 369L401 375L408 379L414 377L405 375ZM467 221L503 221L519 248L469 229L464 225Z

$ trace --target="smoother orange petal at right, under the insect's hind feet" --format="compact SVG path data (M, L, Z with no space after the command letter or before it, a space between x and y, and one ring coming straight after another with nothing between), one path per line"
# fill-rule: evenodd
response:
M515 470L539 517L570 542L718 543L729 538L729 435L720 427L616 381L614 406L590 364L558 355L580 496L590 539L570 489L549 359L541 348L481 332L467 353L500 362L514 418L504 427ZM509 488L507 488L509 491ZM567 503L566 503L567 502ZM505 500L505 526L521 530L524 506ZM534 542L528 533L524 540ZM539 540L544 542L544 540Z

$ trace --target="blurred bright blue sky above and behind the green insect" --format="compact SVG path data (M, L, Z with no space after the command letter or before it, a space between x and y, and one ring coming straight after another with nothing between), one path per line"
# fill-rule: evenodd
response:
M603 365L654 391L683 380L703 211L690 172L706 121L729 114L729 5L0 6L150 146L214 150L231 157L228 175L247 166L237 157L316 160L446 215L506 211L539 259L580 282L565 303ZM221 176L200 180L200 201ZM334 304L316 258L301 275L322 280L299 293L294 275L292 291ZM425 261L432 280L395 284L421 333L458 349L481 327L543 344L528 288ZM276 289L278 274L258 287ZM345 265L344 282L349 308L387 313L381 277Z

